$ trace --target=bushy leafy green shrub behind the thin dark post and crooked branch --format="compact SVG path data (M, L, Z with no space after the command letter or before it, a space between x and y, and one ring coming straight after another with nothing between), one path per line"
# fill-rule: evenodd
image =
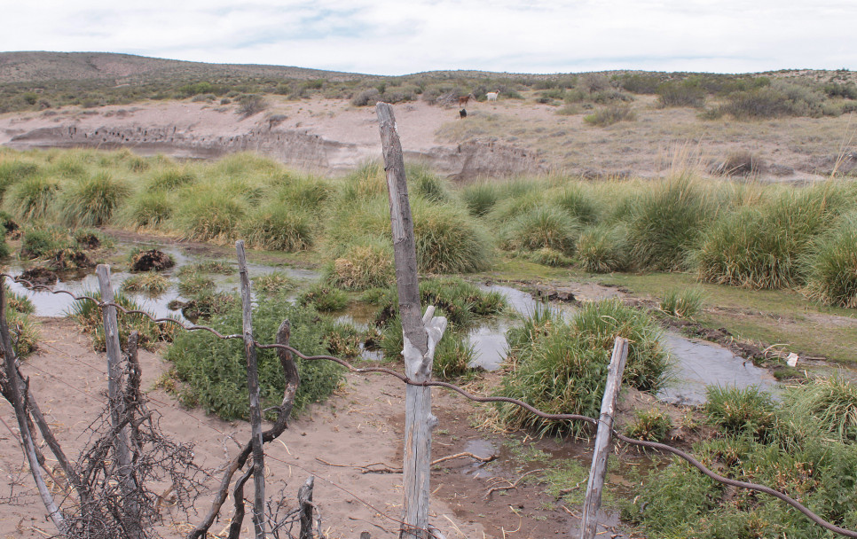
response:
M305 355L324 355L322 324L315 309L293 305L286 300L260 301L253 312L254 338L275 342L279 324L291 323L289 344ZM210 323L218 332L241 332L240 305ZM209 332L179 332L169 347L166 359L176 367L186 387L185 402L198 402L204 410L225 420L248 418L247 359L240 340L219 340ZM257 350L262 407L278 406L283 398L285 380L279 358L272 349ZM323 401L343 379L342 366L328 361L304 361L295 357L301 384L295 396L295 413L311 402Z

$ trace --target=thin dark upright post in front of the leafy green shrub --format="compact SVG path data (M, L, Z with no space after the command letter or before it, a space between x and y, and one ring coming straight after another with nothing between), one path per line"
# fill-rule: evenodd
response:
M241 279L241 320L244 332L244 354L247 355L247 388L250 399L250 435L253 446L253 484L256 497L253 502L253 525L256 539L265 536L265 465L262 448L262 404L259 398L259 370L256 364L256 341L253 340L253 298L250 293L250 277L247 272L247 255L244 241L235 242L238 253L238 270Z

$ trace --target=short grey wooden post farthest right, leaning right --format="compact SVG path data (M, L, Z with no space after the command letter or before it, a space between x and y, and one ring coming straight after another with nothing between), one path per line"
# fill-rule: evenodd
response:
M589 482L586 485L586 500L583 504L580 522L580 539L593 539L598 524L598 510L601 509L601 491L604 488L604 476L607 474L607 458L610 454L610 441L613 437L613 415L616 399L622 387L622 373L628 358L628 340L617 337L613 343L613 355L607 371L607 385L601 399L601 416L598 418L598 433L595 435L595 449L592 467L589 470Z

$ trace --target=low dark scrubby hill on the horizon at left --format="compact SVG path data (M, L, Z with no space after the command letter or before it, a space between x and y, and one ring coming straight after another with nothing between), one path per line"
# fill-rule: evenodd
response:
M0 52L0 84L10 82L104 81L122 83L176 80L267 78L352 80L366 75L288 66L206 64L112 52Z

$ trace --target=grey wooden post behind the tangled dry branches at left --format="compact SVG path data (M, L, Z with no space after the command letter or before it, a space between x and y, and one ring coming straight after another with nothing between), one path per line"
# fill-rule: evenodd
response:
M110 266L98 264L95 269L98 276L98 289L101 292L101 301L104 303L114 302L113 287L110 285ZM104 305L101 308L104 318L104 344L107 353L107 396L110 400L110 417L113 420L114 429L124 419L125 403L122 402L122 343L119 340L119 321L116 318L116 308L113 305ZM130 434L128 426L115 432L116 436L116 460L119 482L122 485L122 496L128 504L129 534L139 537L143 534L141 523L138 519L138 485L134 480L134 470L131 464Z

